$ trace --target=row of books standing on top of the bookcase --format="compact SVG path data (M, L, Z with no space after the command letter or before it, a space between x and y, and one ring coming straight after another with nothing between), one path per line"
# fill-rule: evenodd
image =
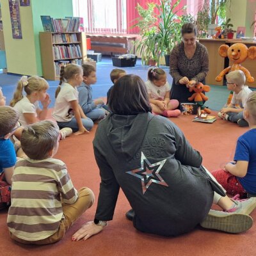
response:
M52 19L51 16L41 15L42 25L45 32L65 33L79 31L83 28L83 18L65 17L65 19Z

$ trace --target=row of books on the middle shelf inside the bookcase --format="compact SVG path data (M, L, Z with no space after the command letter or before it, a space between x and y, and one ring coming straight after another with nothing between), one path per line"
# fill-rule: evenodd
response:
M82 58L80 45L54 45L52 49L54 52L55 60Z

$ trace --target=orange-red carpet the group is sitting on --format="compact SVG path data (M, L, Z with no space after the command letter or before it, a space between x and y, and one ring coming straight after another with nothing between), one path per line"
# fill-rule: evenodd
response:
M179 125L191 145L201 152L206 168L215 170L232 160L237 137L246 129L223 120L217 120L214 124L193 123L192 118L193 116L180 116L172 118L172 121ZM95 130L96 127L90 134L71 136L60 141L56 158L67 164L76 188L88 186L94 191L97 199L100 179L92 150ZM192 196L193 191L191 191ZM6 227L6 211L1 211L0 255L256 255L256 249L253 246L256 225L247 232L236 235L204 230L200 227L189 234L174 238L138 232L132 227L131 221L125 219L125 212L130 209L130 206L122 191L116 205L114 220L109 222L108 227L88 241L71 242L72 234L83 223L93 220L96 206L97 202L68 230L62 241L47 246L24 246L11 241ZM256 211L252 213L252 217L256 220Z

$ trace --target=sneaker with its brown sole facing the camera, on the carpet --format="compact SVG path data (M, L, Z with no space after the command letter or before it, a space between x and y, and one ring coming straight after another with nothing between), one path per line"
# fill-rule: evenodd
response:
M251 228L253 219L246 214L210 210L200 225L203 228L236 234Z

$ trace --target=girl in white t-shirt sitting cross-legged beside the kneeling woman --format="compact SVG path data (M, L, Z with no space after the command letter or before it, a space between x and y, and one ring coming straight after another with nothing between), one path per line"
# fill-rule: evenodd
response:
M145 82L152 112L171 117L179 116L178 100L170 100L170 84L162 68L154 67L148 70L148 81ZM173 110L175 109L175 110Z

